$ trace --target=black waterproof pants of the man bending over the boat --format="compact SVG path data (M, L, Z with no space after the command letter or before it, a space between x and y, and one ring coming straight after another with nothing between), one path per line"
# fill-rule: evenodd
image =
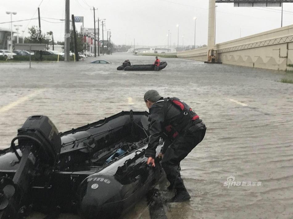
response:
M186 190L180 175L180 161L204 139L206 127L195 125L182 135L178 135L163 154L162 166L171 186L178 190Z

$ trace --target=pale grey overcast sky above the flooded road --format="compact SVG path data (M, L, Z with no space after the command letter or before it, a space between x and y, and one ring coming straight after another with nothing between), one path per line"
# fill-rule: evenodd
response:
M65 0L0 0L0 23L10 22L6 11L16 11L13 20L37 18L40 5L42 31L53 31L55 41L64 41ZM233 7L233 3L217 4L216 43L233 40L251 34L260 33L281 26L281 8L243 8ZM165 45L168 30L171 44L177 45L177 27L179 24L179 44L194 44L194 20L196 20L196 44L207 44L208 0L70 0L70 15L84 16L84 26L93 28L93 11L98 8L96 17L106 19L106 29L111 29L115 44L135 44L146 46ZM56 22L56 23L52 23ZM293 3L284 3L283 26L293 23ZM32 25L38 26L38 20L15 22L22 24L20 30ZM76 23L80 30L81 23ZM0 24L10 28L10 23ZM15 27L13 27L15 29ZM106 38L107 31L104 32Z

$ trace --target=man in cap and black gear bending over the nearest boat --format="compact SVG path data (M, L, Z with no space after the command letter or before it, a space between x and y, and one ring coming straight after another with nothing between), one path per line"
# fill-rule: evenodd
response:
M180 161L199 144L205 135L206 127L199 116L178 98L163 98L156 90L149 90L144 101L150 111L150 137L145 156L147 165L155 167L156 148L159 139L164 145L158 157L170 185L169 190L176 189L171 202L188 201L188 194L180 176Z

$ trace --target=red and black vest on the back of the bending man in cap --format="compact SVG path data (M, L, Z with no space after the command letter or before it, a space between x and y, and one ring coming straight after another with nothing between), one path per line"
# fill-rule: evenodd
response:
M175 123L176 125L170 125L167 124L165 126L165 129L167 131L167 135L171 136L172 138L177 137L177 135L186 128L189 124L193 123L199 123L202 120L199 118L199 116L192 110L190 106L188 106L186 103L184 103L179 98L165 98L164 99L164 116L166 118L167 110L168 110L168 104L167 102L170 102L173 106L175 106L177 109L181 111L180 115L177 117Z

